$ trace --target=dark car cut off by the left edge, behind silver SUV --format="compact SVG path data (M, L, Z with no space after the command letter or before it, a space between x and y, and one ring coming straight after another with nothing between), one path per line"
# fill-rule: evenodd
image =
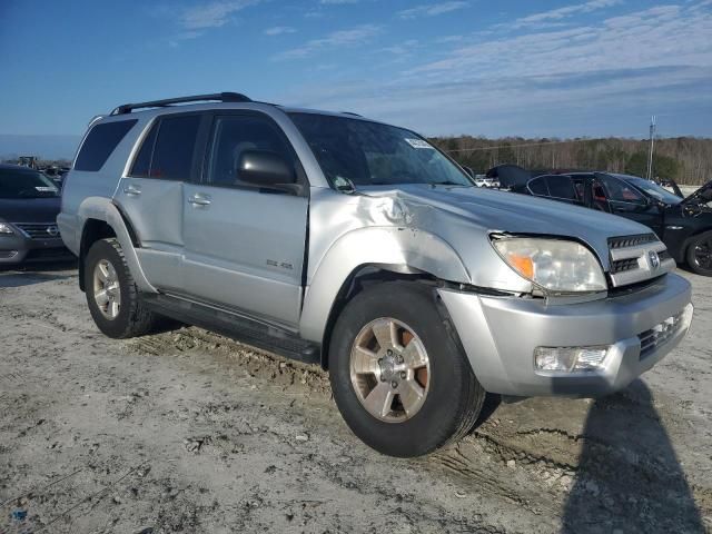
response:
M59 189L41 172L0 165L0 266L73 258L65 247L57 215Z

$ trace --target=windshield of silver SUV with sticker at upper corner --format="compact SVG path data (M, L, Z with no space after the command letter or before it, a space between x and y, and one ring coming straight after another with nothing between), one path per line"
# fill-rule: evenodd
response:
M355 186L445 184L473 186L422 137L393 126L315 113L290 113L322 171L337 189Z

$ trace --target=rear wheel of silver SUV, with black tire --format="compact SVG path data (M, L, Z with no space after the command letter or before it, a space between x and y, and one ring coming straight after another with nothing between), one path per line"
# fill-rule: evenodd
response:
M118 281L118 289L109 284L105 294L108 297L99 299L97 293L101 290L103 281L97 281L95 276L97 266L101 264L109 270L111 276L107 279ZM158 322L158 316L148 310L140 301L139 290L131 277L126 258L119 241L115 238L100 239L91 245L85 258L85 291L87 304L93 322L107 336L117 339L142 336L154 329ZM106 275L103 275L106 277ZM99 287L96 287L99 284ZM107 309L107 299L117 303L118 306ZM115 315L112 317L112 315Z

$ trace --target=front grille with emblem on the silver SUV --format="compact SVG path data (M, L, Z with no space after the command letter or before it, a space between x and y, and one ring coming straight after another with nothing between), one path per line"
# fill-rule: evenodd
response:
M630 286L657 278L675 268L675 261L655 234L609 239L611 285Z

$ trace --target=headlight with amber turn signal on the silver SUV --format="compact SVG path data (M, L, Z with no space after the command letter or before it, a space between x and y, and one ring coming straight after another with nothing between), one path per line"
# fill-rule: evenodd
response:
M512 237L493 244L510 267L552 293L607 289L603 269L593 253L576 241Z

